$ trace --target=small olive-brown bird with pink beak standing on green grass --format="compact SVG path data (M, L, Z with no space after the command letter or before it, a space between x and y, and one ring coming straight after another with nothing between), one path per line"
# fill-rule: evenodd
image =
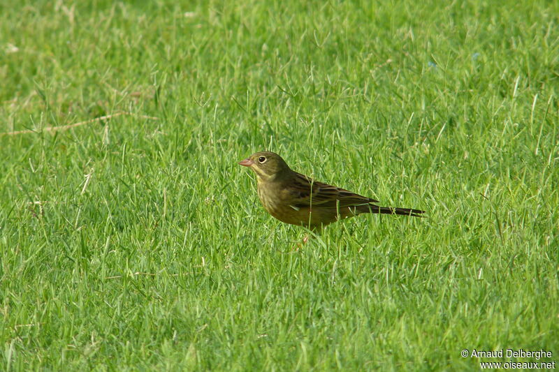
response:
M240 165L256 173L260 201L273 217L320 232L330 223L363 213L421 217L421 209L379 207L379 201L358 195L291 170L272 151L259 151Z

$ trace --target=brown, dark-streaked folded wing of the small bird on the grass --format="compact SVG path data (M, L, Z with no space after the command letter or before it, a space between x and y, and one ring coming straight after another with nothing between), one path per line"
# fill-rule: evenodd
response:
M378 200L352 193L336 186L314 181L304 174L296 173L289 183L291 206L296 208L342 208L356 207Z

